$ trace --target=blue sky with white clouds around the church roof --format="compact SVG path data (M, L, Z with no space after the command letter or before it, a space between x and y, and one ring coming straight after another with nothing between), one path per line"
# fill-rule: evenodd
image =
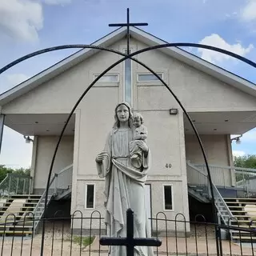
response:
M256 0L0 0L0 66L34 50L91 43L108 34L113 22L148 22L143 30L167 42L202 42L256 61ZM191 49L188 49L191 50ZM199 57L256 82L255 70L207 50ZM58 62L74 50L31 58L0 75L0 94ZM234 154L256 154L256 130L233 145ZM30 166L31 144L4 130L0 163Z

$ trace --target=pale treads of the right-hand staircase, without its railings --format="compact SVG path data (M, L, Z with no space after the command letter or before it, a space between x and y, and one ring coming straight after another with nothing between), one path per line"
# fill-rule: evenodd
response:
M234 218L230 219L230 225L246 229L256 228L256 198L224 198L226 205ZM246 206L246 207L245 207ZM251 206L251 207L250 207ZM255 234L232 230L234 242L256 242Z

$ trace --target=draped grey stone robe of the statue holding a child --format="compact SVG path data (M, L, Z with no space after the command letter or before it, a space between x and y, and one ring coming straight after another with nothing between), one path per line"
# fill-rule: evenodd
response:
M145 182L150 167L150 151L142 154L142 170L130 163L130 128L113 130L104 149L102 164L97 164L98 174L106 178L106 227L110 237L126 237L126 210L134 211L134 238L150 237L149 216L146 215ZM110 246L111 256L126 256L125 246ZM153 255L153 248L136 246L134 255Z

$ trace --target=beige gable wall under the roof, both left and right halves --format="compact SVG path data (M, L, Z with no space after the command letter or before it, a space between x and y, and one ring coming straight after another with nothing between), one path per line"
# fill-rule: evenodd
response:
M111 48L123 50L126 41L115 43ZM139 50L146 45L131 40L133 50ZM164 80L177 94L187 110L210 111L210 110L241 110L251 108L255 110L256 101L249 94L218 81L202 71L195 70L175 58L154 50L150 53L139 54L138 60L144 62L155 71L163 72ZM72 66L70 70L58 75L38 86L21 98L2 107L3 114L26 114L26 113L67 113L78 100L86 87L93 81L93 74L99 74L108 66L117 61L120 56L109 52L100 52L88 58L85 62ZM163 86L147 83L144 86L137 82L138 72L148 72L137 63L133 63L134 69L134 109L139 110L165 110L171 106L177 106L174 98ZM122 98L123 64L119 64L110 70L110 73L120 74L119 98ZM109 86L109 85L106 85ZM94 87L98 92L94 100L101 102L105 97L103 90ZM87 94L85 100L92 96ZM68 100L68 101L67 101ZM110 100L110 98L109 98ZM63 104L63 101L65 104ZM46 103L47 102L47 103Z

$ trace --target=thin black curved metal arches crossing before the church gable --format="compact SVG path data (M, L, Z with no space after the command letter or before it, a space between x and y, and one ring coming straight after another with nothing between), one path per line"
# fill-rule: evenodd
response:
M154 74L159 81L162 82L162 84L164 86L166 86L166 89L169 90L170 94L173 95L173 97L175 98L175 100L178 102L178 105L182 108L182 110L184 111L184 114L186 115L186 118L188 118L189 122L190 122L190 125L192 126L193 130L194 130L194 133L196 134L196 137L198 139L198 143L200 145L200 148L202 150L202 154L203 154L203 158L204 158L204 161L206 163L206 170L207 170L207 173L208 173L208 177L209 177L209 182L210 182L210 192L211 192L211 202L212 202L212 206L213 206L213 210L214 210L214 218L216 218L217 220L217 214L216 214L216 210L215 210L215 206L214 206L214 193L213 193L213 186L212 186L212 179L211 179L211 175L210 175L210 169L209 169L209 165L208 165L208 161L207 161L207 158L206 158L206 153L205 153L205 150L203 148L203 145L202 145L202 141L201 141L201 138L198 134L198 131L197 129L195 128L194 126L194 123L192 122L191 118L190 118L190 115L186 112L186 109L184 108L184 106L182 106L182 102L179 101L178 97L174 94L174 92L170 89L170 87L166 84L166 82L164 82L162 80L162 78L160 78L158 76L158 74L156 74L154 72L154 70L151 70L150 67L146 66L146 64L144 64L143 62L140 62L138 61L136 58L133 58L134 55L137 55L137 54L142 54L146 51L149 51L149 50L157 50L157 49L161 49L161 48L166 48L166 47L174 47L174 46L190 46L190 47L198 47L198 48L203 48L203 49L207 49L207 50L214 50L214 51L217 51L219 53L222 53L222 54L227 54L231 57L234 57L234 58L238 58L239 60L241 60L242 62L246 62L247 64L249 64L250 66L254 66L256 67L256 63L255 62L252 62L250 61L249 59L247 58L244 58L238 54L234 54L228 50L223 50L223 49L220 49L218 47L214 47L214 46L206 46L206 45L202 45L202 44L197 44L197 43L186 43L186 42L178 42L178 43L166 43L166 44L162 44L162 45L158 45L158 46L150 46L150 47L147 47L147 48L144 48L142 50L138 50L134 53L131 53L131 54L123 54L122 52L119 52L118 50L113 50L113 49L110 49L110 48L105 48L105 47L101 47L101 46L91 46L91 45L66 45L66 46L55 46L55 47L50 47L50 48L46 48L46 49L43 49L43 50L38 50L38 51L35 51L34 53L31 53L31 54L27 54L26 56L23 56L22 58L18 58L17 60L15 60L14 62L10 62L10 64L4 66L1 70L0 70L0 74L2 74L3 72L5 72L6 70L9 70L10 67L12 66L15 66L17 65L19 62L22 62L28 58L32 58L36 55L39 55L39 54L44 54L44 53L47 53L47 52L50 52L50 51L54 51L54 50L63 50L63 49L72 49L72 48L83 48L83 49L95 49L95 50L105 50L105 51L109 51L109 52L112 52L114 54L119 54L119 55L122 55L124 56L124 58L121 58L120 60L118 60L117 62L114 62L111 66L109 66L106 70L104 70L102 72L102 74L100 74L95 80L94 82L91 82L90 86L87 87L87 89L84 91L84 93L80 96L80 98L78 99L78 102L76 102L76 104L74 105L73 109L71 110L70 114L69 114L69 117L66 119L66 123L65 125L63 126L62 128L62 132L60 134L60 137L58 139L58 143L55 147L55 150L54 150L54 155L53 155L53 158L52 158L52 161L51 161L51 164L50 164L50 171L49 171L49 175L48 175L48 180L47 180L47 185L46 185L46 200L45 200L45 212L46 212L46 208L47 208L47 195L48 195L48 190L49 190L49 185L50 185L50 176L52 174L52 170L53 170L53 166L54 166L54 161L55 161L55 158L56 158L56 154L57 154L57 151L58 151L58 147L60 145L60 142L62 140L62 136L64 134L64 131L66 130L66 126L68 124L68 122L70 121L70 118L71 116L74 114L74 110L76 109L76 107L78 106L78 104L82 101L82 98L84 98L84 96L88 93L88 91L91 89L92 86L94 86L94 84L96 82L98 82L98 80L100 78L102 78L102 76L104 74L106 74L109 70L111 70L112 68L114 68L114 66L117 66L119 63L121 62L124 62L126 59L131 59L133 60L134 62L137 62L138 64L144 66L146 68L146 70L149 70L152 74ZM43 241L44 241L44 233L45 233L45 230L44 230L44 226L42 226L42 247L43 247ZM41 250L43 250L41 248ZM41 251L41 254L42 254L42 251Z

